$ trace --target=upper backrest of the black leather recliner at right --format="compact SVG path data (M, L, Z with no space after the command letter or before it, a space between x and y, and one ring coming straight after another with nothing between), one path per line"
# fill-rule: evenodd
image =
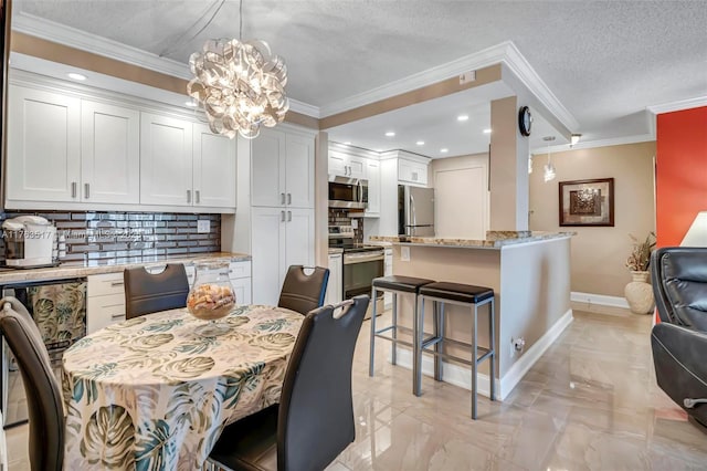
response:
M661 321L707 332L707 248L655 250L651 282Z

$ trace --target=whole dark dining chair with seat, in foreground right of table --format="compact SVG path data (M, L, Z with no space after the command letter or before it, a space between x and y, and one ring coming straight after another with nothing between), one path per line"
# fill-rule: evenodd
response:
M351 364L368 303L363 294L305 316L279 405L226 426L211 463L226 470L323 470L354 441Z

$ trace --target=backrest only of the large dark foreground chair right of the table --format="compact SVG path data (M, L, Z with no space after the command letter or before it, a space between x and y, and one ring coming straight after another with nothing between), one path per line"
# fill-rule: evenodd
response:
M356 438L351 364L369 296L309 312L295 342L279 400L277 469L325 469Z

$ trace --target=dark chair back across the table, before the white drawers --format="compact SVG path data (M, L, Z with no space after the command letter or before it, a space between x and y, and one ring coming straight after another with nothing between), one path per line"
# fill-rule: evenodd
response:
M161 273L149 273L143 266L127 269L123 280L126 318L187 306L189 280L181 263L168 263Z

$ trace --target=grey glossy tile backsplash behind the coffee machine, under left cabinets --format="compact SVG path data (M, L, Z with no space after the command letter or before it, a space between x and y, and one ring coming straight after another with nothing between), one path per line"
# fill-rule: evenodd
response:
M99 211L6 211L0 222L21 214L53 221L66 240L61 261L130 263L169 255L221 251L221 214ZM198 233L197 221L208 220L209 232ZM4 264L4 239L0 239Z

